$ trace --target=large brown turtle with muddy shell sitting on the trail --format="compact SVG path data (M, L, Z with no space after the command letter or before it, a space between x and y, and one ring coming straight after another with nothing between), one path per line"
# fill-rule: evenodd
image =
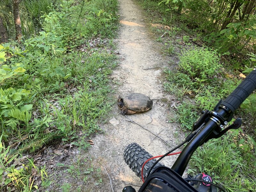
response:
M118 97L117 105L122 110L122 115L131 115L151 109L153 101L141 93L128 93Z

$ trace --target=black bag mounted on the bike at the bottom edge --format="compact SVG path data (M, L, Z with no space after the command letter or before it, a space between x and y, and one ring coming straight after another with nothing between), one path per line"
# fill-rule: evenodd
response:
M139 192L198 192L179 174L168 167L160 166L148 176Z

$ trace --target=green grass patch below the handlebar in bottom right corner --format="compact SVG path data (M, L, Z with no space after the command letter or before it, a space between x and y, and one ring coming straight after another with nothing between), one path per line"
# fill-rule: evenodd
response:
M211 140L198 148L190 161L189 170L196 174L204 172L227 191L254 191L255 146L251 140L242 140L238 132L228 133L217 140ZM192 169L193 169L192 168Z

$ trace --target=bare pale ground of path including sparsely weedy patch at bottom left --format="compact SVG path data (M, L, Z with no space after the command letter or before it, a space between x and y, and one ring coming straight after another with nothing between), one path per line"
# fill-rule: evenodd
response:
M119 3L120 31L115 42L120 63L111 75L113 89L116 90L114 97L117 100L122 94L142 93L153 99L153 107L143 113L123 116L116 103L109 120L115 117L117 125L109 122L101 125L104 133L90 139L94 145L88 151L71 149L70 155L60 161L65 166L55 170L49 191L112 191L112 185L113 191L119 192L129 184L140 186L142 181L123 160L125 146L137 142L156 156L179 143L179 138L173 136L177 135L176 125L168 123L172 112L167 103L175 99L164 92L161 78L170 58L159 53L160 46L150 38L145 18L136 3L132 0L119 0ZM155 134L162 131L158 135L162 140L146 129ZM162 162L171 166L176 158L166 157ZM138 190L139 187L134 188Z

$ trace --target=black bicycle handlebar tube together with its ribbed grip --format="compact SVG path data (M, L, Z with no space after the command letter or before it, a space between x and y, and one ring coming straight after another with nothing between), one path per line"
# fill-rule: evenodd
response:
M215 114L218 114L222 120L229 121L230 113L233 116L234 111L244 102L244 100L256 89L256 70L253 70L244 81L225 99L221 105L226 108L219 108ZM228 109L229 110L228 110ZM218 119L217 119L218 120ZM182 150L181 154L172 166L172 170L182 176L188 162L195 150L204 143L208 136L220 126L216 123L216 118L209 118L209 121L200 128L196 135L189 141L188 145Z

